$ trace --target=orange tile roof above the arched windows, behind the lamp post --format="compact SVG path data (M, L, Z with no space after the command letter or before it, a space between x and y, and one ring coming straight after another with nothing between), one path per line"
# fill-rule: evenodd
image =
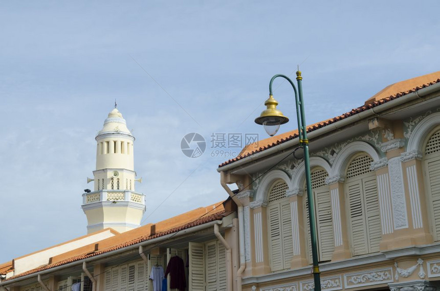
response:
M377 93L375 96L369 98L363 106L351 109L350 111L340 116L307 126L307 133L439 82L440 82L440 71L389 85L385 87L382 91ZM247 156L253 155L258 152L262 152L271 147L275 147L279 144L293 140L297 137L298 137L298 130L296 129L285 133L281 133L280 135L270 137L268 139L260 140L258 141L258 146L259 146L258 148L255 148L255 145L252 144L245 146L243 150L241 150L239 155L237 155L233 159L230 159L218 165L218 167L221 168L223 166L232 164L236 161L246 158Z

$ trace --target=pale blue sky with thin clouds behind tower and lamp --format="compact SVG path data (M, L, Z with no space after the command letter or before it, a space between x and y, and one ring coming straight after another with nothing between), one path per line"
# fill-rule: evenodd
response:
M306 120L314 123L391 83L439 71L438 6L2 2L0 262L85 234L81 194L92 187L85 177L95 169L94 137L115 99L136 137L144 223L156 222L227 197L216 168L230 157L212 151L210 135L266 138L253 120L274 74L294 76L300 64ZM287 83L275 98L294 121ZM188 132L208 142L200 158L180 150Z

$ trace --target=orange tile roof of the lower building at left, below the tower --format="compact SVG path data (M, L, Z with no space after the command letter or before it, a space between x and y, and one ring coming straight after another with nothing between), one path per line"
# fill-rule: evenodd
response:
M218 204L214 204L214 206L218 206ZM185 215L188 213L193 213L193 214L198 215L199 212L197 212L197 210L207 209L207 208L211 208L210 210L213 209L212 206L209 206L206 208L195 209L195 211L193 210L193 211L184 213L182 215ZM206 212L205 212L205 214L206 214ZM179 223L181 225L174 226L173 228L169 228L169 229L162 229L159 232L156 231L155 234L151 234L151 232L150 232L151 224L145 225L145 226L139 227L135 230L127 231L125 233L121 233L117 236L107 238L103 241L98 242L99 248L97 251L95 251L96 244L86 245L80 249L77 249L77 250L62 254L58 257L52 258L52 260L51 260L52 262L48 265L34 268L33 270L18 274L16 276L8 278L4 281L27 276L27 275L30 275L33 273L37 273L37 272L40 272L43 270L48 270L48 269L56 267L56 266L75 262L75 261L82 260L85 258L90 258L90 257L94 257L94 256L101 255L104 253L112 252L112 251L115 251L118 249L129 247L130 245L134 245L139 242L151 240L153 238L158 238L158 237L165 236L165 235L172 234L172 233L178 233L179 231L186 230L186 229L189 229L189 228L192 228L195 226L204 225L205 223L208 223L211 221L221 220L223 217L225 217L228 214L229 213L225 213L225 209L224 209L223 205L220 205L219 207L217 207L215 209L215 212L212 212L212 214L209 214L206 216L203 216L204 214L202 214L202 215L197 216L197 218L193 217L193 220L190 222L187 222L183 225L181 223ZM178 217L181 217L182 215L175 216L173 218L178 218ZM169 220L169 219L167 219L167 220ZM167 220L164 220L164 221L167 221ZM158 225L159 224L160 224L160 222L158 223ZM127 238L130 238L130 239L127 239ZM92 246L93 246L93 248L92 248ZM77 254L74 255L73 253L77 253ZM78 253L80 253L80 254L78 254ZM63 258L62 260L60 260L61 257ZM0 266L3 266L3 265L0 265Z

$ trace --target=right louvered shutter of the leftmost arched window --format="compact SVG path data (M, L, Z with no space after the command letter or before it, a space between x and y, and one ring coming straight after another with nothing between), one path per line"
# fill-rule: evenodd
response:
M290 261L293 257L292 209L289 202L281 204L280 209L283 268L290 268Z

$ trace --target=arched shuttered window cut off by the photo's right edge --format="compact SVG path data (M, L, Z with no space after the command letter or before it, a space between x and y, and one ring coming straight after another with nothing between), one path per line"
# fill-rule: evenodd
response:
M431 133L424 156L432 232L434 240L440 240L440 128Z

